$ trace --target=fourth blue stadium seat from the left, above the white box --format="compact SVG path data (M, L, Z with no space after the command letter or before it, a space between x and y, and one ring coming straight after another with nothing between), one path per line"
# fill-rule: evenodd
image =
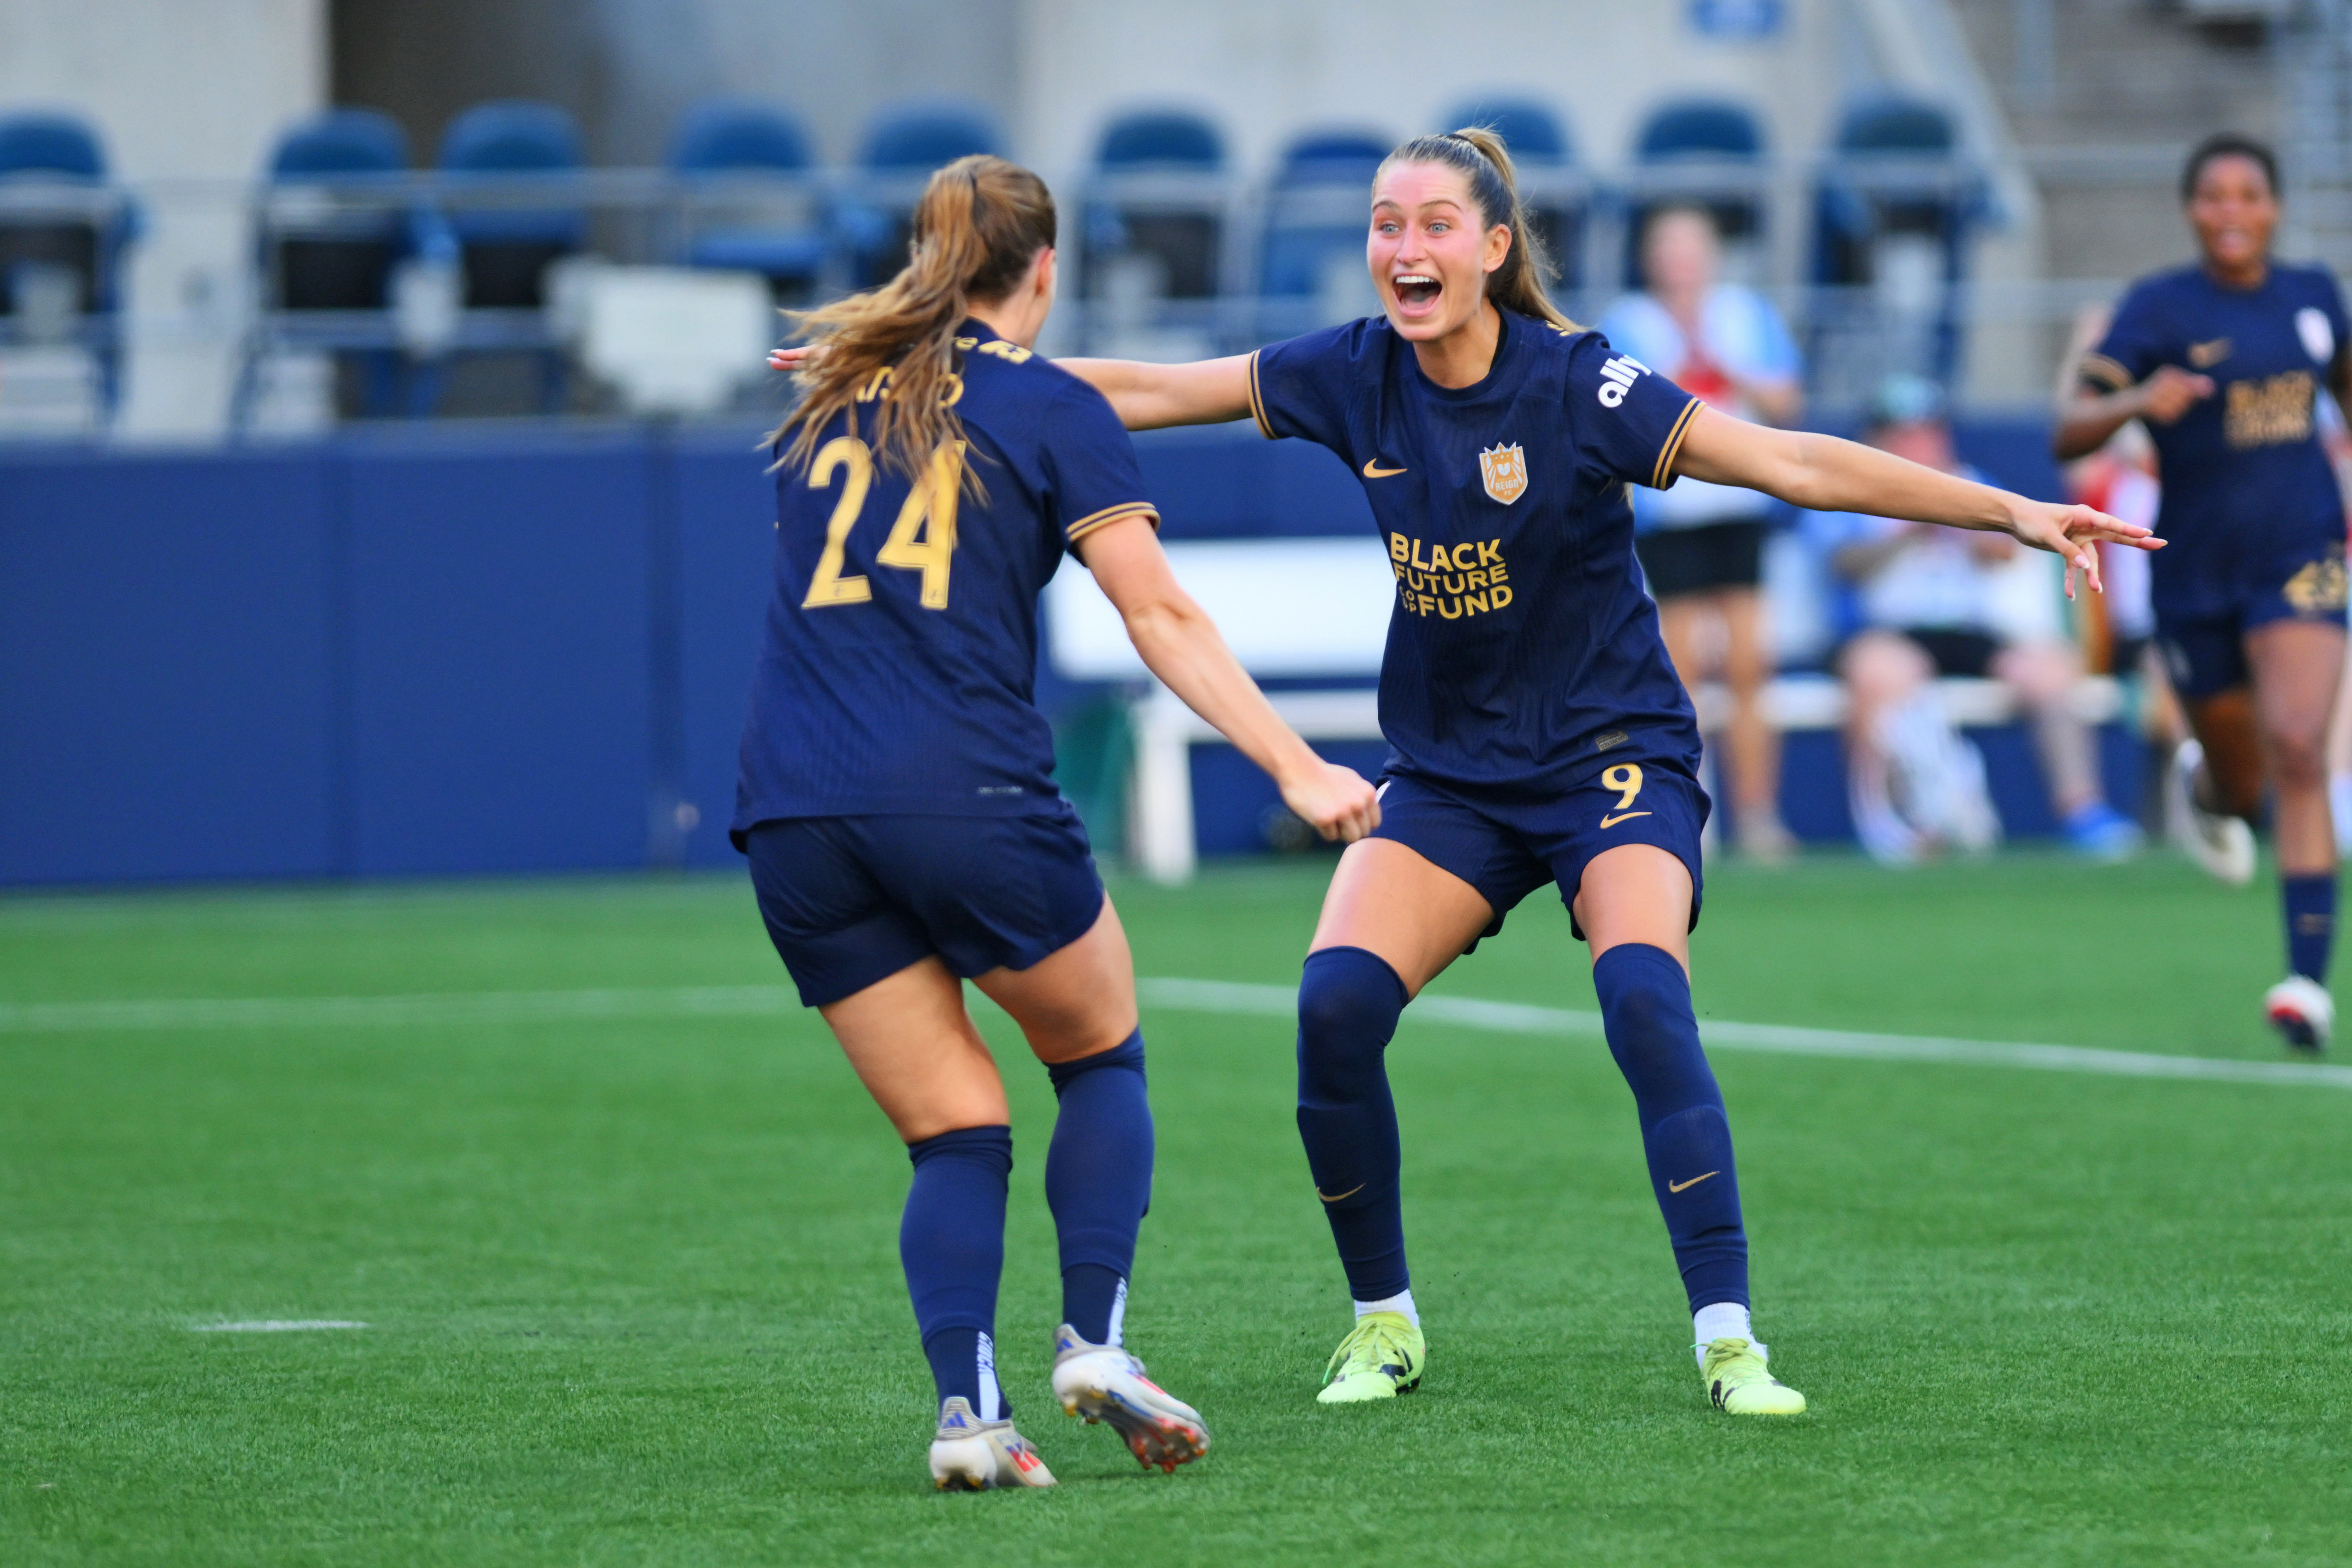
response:
M670 143L670 172L687 186L677 254L760 273L779 301L814 294L833 244L811 167L809 139L783 110L741 99L687 110Z

